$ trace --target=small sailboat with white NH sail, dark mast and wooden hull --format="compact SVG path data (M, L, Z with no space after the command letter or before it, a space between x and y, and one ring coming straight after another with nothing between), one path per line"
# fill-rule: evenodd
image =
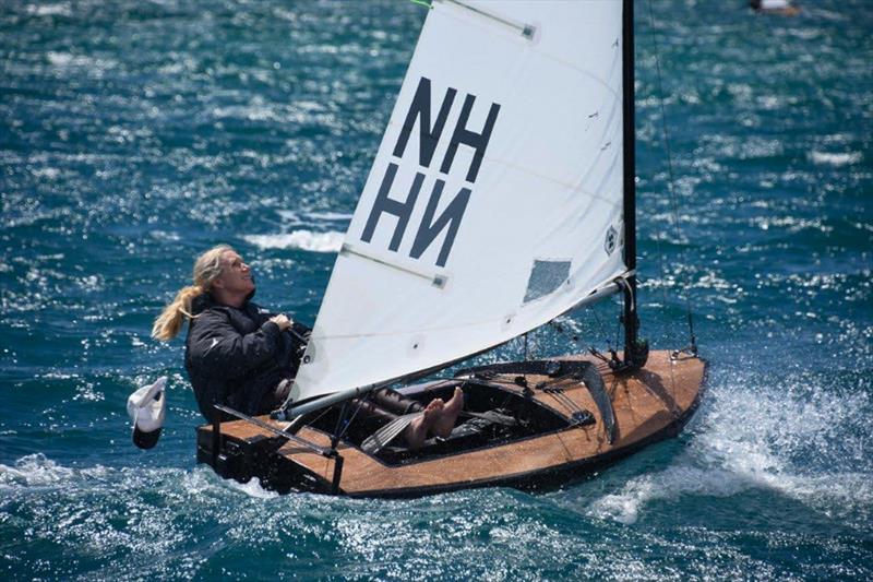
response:
M283 492L419 496L561 484L677 435L706 364L638 335L633 46L631 0L434 0L289 400L216 406L199 462ZM614 294L621 353L433 379ZM461 388L464 413L416 450L356 433L386 385Z

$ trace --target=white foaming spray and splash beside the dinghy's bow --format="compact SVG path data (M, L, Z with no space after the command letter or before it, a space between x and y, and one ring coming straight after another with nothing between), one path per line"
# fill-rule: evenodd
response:
M864 418L870 399L863 392L833 394L809 378L743 380L705 396L705 416L671 466L595 499L588 514L630 524L658 500L764 489L869 531L873 467ZM762 384L779 391L767 392Z

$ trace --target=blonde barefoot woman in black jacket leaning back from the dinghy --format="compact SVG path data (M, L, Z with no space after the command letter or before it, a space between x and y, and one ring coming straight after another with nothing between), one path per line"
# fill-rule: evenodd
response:
M193 285L176 294L152 328L152 336L166 342L188 320L186 370L200 412L210 421L217 414L215 404L251 416L276 409L300 366L311 330L254 304L254 277L242 257L218 245L198 258ZM449 436L463 403L459 389L447 403L434 399L424 407L383 389L358 404L370 423L421 412L403 433L410 448L418 448L429 433Z

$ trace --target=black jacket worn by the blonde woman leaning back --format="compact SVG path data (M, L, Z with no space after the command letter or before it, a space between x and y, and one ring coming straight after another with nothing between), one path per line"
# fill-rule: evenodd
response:
M222 403L249 415L266 414L262 400L283 378L297 373L303 343L279 332L273 313L247 301L239 309L215 302L208 294L195 298L186 340L184 367L200 412L213 419ZM310 330L300 323L294 330ZM270 399L267 399L270 402Z

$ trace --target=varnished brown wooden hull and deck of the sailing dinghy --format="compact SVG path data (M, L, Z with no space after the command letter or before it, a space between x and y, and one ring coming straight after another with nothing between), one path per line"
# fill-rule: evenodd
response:
M586 385L579 371L594 372L601 384ZM198 461L226 478L258 477L280 492L405 497L498 485L554 486L675 436L699 402L705 372L702 359L669 352L653 352L644 368L629 373L615 373L590 356L483 367L403 391L427 402L449 397L461 385L465 408L478 413L462 415L447 439L430 439L416 451L386 447L369 454L360 442L342 440L332 455L334 413L296 433L321 452L277 432L289 423L263 416L258 418L263 426L223 423L217 438L212 425L200 427ZM598 405L598 390L608 406ZM488 418L489 411L499 412Z

